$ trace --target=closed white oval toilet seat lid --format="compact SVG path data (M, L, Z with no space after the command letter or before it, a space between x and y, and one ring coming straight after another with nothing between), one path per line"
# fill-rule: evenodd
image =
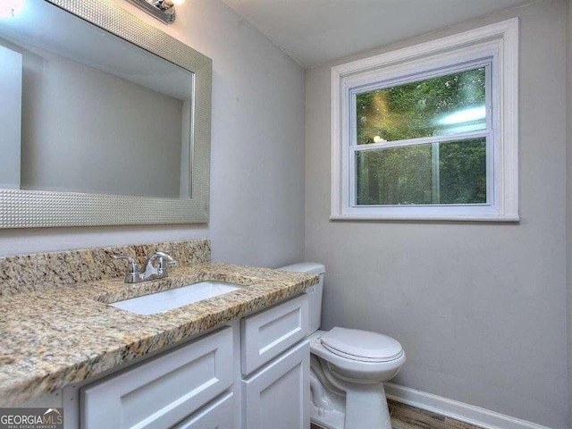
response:
M399 341L378 332L334 327L320 341L333 354L359 362L390 362L403 355Z

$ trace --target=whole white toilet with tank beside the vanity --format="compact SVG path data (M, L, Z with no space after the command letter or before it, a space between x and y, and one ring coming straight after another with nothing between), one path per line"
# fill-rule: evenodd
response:
M312 422L326 429L391 429L383 382L405 363L400 342L358 329L320 331L324 265L305 262L278 269L320 277L308 291Z

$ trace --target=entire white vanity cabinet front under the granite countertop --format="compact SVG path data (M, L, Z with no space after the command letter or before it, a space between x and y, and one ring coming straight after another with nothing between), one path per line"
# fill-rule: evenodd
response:
M66 408L65 427L309 429L308 329L306 294L235 319L72 388L79 415Z

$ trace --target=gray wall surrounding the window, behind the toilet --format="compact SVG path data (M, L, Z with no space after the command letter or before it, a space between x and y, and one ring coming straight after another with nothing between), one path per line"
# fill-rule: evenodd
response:
M326 265L323 326L384 332L394 379L568 427L565 2L543 1L307 71L306 258ZM518 224L329 222L330 67L521 19Z

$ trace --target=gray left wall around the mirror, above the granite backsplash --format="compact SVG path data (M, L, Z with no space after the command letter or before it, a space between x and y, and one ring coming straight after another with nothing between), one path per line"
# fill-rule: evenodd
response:
M304 71L219 0L188 0L165 26L213 59L211 220L0 231L0 255L210 238L217 261L277 266L304 257Z

